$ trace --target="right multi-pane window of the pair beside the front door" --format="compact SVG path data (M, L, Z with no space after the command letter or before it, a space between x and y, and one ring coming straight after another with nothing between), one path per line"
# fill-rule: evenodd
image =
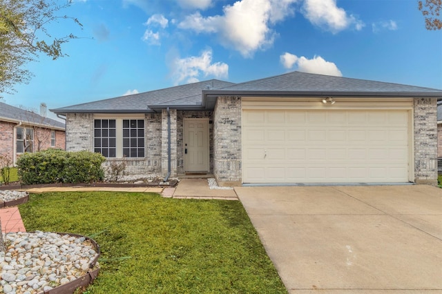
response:
M123 156L144 157L143 119L123 119Z

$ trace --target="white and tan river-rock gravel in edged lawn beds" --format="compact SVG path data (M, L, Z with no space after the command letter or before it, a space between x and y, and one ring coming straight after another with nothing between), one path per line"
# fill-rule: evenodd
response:
M26 197L26 192L0 190L0 202ZM0 291L35 294L72 282L90 271L99 255L82 236L35 231L3 234Z

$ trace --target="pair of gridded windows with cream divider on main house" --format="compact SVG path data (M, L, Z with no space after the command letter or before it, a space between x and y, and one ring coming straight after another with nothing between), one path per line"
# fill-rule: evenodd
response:
M140 158L144 147L144 119L94 119L94 152L107 158Z

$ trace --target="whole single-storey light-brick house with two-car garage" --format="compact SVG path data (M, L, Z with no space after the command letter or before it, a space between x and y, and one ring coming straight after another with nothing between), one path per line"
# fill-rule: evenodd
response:
M51 110L68 150L132 175L213 173L220 186L436 184L442 90L289 72L216 79Z

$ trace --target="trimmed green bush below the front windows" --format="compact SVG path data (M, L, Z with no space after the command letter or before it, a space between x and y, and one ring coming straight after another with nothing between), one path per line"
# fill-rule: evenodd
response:
M102 155L89 151L49 149L21 155L17 167L21 182L28 185L97 182L104 178L104 160Z

